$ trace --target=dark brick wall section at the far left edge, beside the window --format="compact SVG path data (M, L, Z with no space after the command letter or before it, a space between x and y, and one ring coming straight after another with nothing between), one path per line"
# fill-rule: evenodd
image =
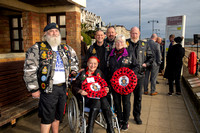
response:
M10 46L10 29L9 18L6 16L0 17L0 53L9 53Z

